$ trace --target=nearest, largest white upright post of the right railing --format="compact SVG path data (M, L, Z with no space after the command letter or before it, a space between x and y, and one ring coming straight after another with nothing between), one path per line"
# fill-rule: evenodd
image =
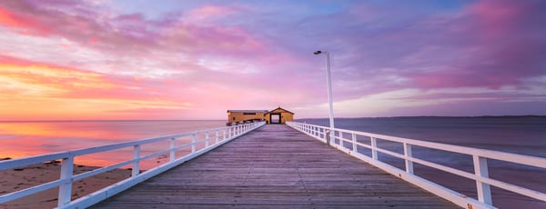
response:
M489 178L487 158L478 155L472 155L472 158L474 160L474 173L477 176ZM478 189L478 200L481 203L491 205L492 200L490 184L482 183L480 180L476 179L476 188Z

